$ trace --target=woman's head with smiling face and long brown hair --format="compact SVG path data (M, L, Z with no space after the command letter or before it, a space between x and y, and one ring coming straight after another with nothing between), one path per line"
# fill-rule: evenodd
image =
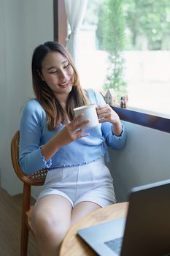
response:
M54 129L60 122L73 118L73 108L87 104L80 87L77 70L69 53L62 45L47 42L34 50L32 59L33 89L36 98L47 111L47 127ZM72 90L74 82L74 89ZM50 89L50 90L49 90ZM71 94L69 94L72 91ZM74 93L78 91L80 95ZM59 92L58 97L55 94ZM66 105L69 97L69 105ZM66 108L67 115L65 116ZM56 108L59 108L58 118Z

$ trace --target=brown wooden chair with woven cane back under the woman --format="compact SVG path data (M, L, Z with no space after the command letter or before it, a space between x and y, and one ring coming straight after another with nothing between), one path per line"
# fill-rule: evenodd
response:
M27 255L28 249L28 233L31 227L28 223L29 211L31 209L31 186L42 186L45 182L47 169L39 170L32 175L26 175L20 169L18 162L19 157L20 132L17 131L11 141L11 157L12 165L18 178L23 181L23 205L20 233L20 256ZM34 234L33 230L31 230Z

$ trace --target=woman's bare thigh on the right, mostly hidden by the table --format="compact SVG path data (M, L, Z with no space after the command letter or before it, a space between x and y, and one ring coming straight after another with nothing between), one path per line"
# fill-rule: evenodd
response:
M95 211L99 208L101 208L101 206L93 202L85 201L77 203L77 205L72 209L71 225L74 225L80 219L90 214L90 212Z

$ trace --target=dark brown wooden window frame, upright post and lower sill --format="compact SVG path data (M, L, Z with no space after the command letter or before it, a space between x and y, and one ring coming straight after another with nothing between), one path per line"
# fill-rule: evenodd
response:
M66 46L67 18L63 0L53 0L54 40ZM123 121L139 124L143 127L170 133L170 118L142 113L128 108L112 107Z

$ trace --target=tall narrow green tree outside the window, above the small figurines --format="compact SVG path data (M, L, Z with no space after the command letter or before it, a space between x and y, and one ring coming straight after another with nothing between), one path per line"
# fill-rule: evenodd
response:
M98 14L96 31L100 48L109 53L109 67L104 89L115 89L118 99L120 95L126 93L122 57L125 46L125 18L122 7L122 0L104 1Z

